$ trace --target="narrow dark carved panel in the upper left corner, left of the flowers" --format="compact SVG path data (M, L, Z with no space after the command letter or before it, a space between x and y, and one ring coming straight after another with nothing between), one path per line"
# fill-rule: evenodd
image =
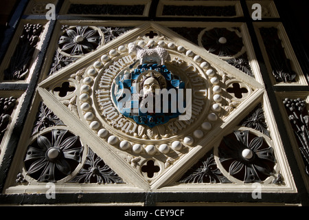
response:
M26 24L19 38L15 52L10 59L8 69L4 71L4 80L24 80L29 74L30 63L39 40L43 26L41 24Z

